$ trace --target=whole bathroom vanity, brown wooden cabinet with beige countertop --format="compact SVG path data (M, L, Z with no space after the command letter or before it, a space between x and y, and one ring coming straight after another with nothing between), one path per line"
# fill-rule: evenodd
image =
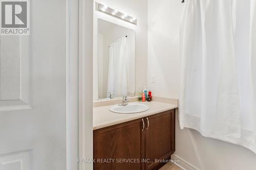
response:
M94 169L159 169L175 151L176 105L146 102L149 110L119 114L94 108Z

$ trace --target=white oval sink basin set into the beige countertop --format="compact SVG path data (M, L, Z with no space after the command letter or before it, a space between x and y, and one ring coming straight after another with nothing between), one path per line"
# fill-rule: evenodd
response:
M150 107L140 103L130 103L126 106L114 105L110 108L110 111L115 113L139 113L150 109Z

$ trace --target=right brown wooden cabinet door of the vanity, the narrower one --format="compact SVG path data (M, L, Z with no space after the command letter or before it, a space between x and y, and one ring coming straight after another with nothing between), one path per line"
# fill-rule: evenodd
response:
M148 120L148 121L147 121ZM175 151L175 111L169 110L145 118L145 168L158 169L164 163L155 159L169 159Z

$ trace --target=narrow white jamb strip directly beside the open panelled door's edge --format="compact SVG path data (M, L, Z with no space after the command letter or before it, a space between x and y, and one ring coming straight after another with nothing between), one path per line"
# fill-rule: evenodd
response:
M66 0L66 164L78 170L78 9L79 0Z

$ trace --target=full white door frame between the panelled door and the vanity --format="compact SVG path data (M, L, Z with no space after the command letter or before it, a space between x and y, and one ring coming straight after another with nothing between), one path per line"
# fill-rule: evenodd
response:
M66 0L67 170L93 170L93 0Z

